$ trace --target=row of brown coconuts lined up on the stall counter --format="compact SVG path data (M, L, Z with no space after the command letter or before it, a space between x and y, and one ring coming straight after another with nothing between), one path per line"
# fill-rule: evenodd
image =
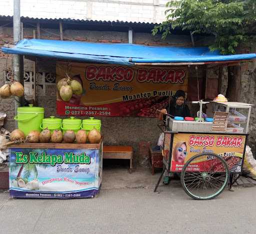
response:
M91 144L98 144L101 140L101 135L98 130L93 128L86 134L85 130L79 130L76 133L72 130L67 130L63 134L61 130L54 130L52 133L45 128L41 132L32 130L25 137L24 133L15 129L10 134L11 141L26 141L29 143L77 143L85 144L87 141Z

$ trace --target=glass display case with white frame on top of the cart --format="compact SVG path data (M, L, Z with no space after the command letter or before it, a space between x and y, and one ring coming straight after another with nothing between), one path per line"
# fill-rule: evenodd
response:
M248 134L251 106L241 102L213 101L213 112L229 112L226 132Z

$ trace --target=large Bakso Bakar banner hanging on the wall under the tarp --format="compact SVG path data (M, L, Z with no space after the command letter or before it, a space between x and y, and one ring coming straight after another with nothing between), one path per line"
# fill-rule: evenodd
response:
M68 75L83 92L63 101L57 91L58 115L155 117L166 108L169 96L187 91L184 67L128 67L72 63ZM67 63L57 62L56 82L67 73Z

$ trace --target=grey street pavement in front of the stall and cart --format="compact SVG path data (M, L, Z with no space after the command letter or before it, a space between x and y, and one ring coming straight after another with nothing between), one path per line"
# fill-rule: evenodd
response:
M256 187L195 201L180 183L101 189L95 199L9 199L0 192L0 234L255 234Z

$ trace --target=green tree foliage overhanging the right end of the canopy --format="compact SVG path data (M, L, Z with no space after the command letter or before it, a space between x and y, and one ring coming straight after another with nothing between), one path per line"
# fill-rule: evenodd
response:
M255 29L256 0L171 0L166 7L166 21L152 29L153 35L165 39L175 28L206 33L215 37L209 49L221 54L235 53Z

